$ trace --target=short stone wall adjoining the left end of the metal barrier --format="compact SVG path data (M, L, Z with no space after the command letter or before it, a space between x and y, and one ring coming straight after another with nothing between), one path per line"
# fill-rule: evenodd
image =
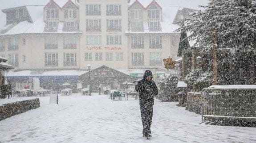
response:
M202 107L201 93L188 92L186 110L195 112L196 114L201 114L201 107Z

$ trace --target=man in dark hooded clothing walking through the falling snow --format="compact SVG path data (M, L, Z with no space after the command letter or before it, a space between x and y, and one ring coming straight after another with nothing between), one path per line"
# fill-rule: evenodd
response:
M158 94L158 89L152 77L152 72L146 70L143 79L138 81L138 84L135 86L135 90L139 92L139 104L143 125L142 134L147 139L150 139L152 136L150 126L153 116L154 96Z

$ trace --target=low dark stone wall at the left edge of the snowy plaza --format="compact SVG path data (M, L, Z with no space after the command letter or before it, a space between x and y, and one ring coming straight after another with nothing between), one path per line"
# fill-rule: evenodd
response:
M40 107L39 98L3 104L0 106L0 120Z

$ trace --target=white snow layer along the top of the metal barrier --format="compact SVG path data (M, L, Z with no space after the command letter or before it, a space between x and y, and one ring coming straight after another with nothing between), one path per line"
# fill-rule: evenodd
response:
M256 89L256 85L211 85L205 89Z

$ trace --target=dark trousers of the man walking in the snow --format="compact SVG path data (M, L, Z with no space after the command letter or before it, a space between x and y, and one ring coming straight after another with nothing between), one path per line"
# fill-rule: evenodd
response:
M153 105L140 105L140 112L141 112L141 119L142 119L142 125L143 125L143 135L149 135L151 134L150 126L152 123L152 117L153 117Z

